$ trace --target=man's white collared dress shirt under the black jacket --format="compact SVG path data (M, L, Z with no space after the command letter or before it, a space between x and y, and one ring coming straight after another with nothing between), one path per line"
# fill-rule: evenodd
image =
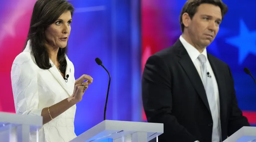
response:
M198 56L200 54L203 54L206 56L206 66L207 66L207 71L209 72L209 75L211 76L211 79L213 81L213 89L214 89L214 95L215 95L215 100L216 100L216 104L217 104L217 110L218 110L218 119L220 119L220 107L219 107L219 89L218 89L218 84L216 81L216 78L214 76L212 67L210 65L210 62L207 58L207 51L206 49L203 50L202 53L200 53L195 47L193 47L191 44L189 44L182 36L180 36L180 41L183 44L183 46L185 47L185 49L187 50L188 55L190 56L192 62L194 63L194 66L197 69L197 72L199 74L199 76L201 77L202 80L202 75L201 75L201 62L198 60ZM203 81L203 80L202 80ZM217 127L218 124L213 124L213 128ZM221 135L219 135L221 136Z

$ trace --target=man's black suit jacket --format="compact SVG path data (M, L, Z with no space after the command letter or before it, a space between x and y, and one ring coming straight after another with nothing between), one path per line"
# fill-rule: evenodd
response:
M238 107L229 66L207 54L220 98L222 140L249 126ZM159 142L211 142L213 120L201 78L180 42L149 57L142 77L148 122L163 123Z

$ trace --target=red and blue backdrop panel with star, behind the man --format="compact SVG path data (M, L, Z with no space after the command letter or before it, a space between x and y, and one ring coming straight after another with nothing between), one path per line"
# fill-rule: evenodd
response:
M239 107L256 125L256 86L244 73L248 67L256 77L256 1L223 0L229 7L214 42L207 51L226 62L233 73ZM186 0L142 0L142 70L146 59L170 47L181 35L179 15ZM143 120L146 120L144 113Z

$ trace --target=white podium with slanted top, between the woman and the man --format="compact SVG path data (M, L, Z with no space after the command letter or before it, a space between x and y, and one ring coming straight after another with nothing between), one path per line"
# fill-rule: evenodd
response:
M70 142L148 142L164 133L164 124L105 120Z

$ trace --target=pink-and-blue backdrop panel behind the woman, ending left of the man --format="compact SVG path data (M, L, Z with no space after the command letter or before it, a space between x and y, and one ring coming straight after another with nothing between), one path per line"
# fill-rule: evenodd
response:
M0 111L15 113L10 72L22 51L36 0L8 0L0 5ZM103 121L108 74L111 74L106 119L141 121L140 30L137 0L70 0L75 7L68 57L75 78L90 75L94 82L77 104L75 133Z

